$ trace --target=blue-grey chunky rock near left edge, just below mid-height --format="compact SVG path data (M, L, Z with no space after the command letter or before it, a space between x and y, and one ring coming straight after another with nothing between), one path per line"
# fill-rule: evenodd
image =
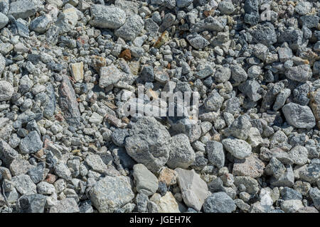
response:
M21 139L19 144L20 152L23 154L32 154L38 152L42 148L43 142L37 131L32 131Z

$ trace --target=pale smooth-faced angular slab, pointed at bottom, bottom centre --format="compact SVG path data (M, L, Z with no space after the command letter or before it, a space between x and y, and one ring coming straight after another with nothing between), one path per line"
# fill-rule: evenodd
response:
M178 173L178 185L181 190L184 203L188 207L200 211L205 199L209 196L208 185L194 170L176 168Z

